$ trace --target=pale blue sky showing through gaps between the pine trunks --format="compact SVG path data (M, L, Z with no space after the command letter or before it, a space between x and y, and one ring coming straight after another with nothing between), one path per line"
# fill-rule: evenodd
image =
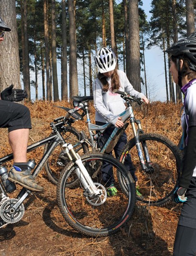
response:
M142 0L143 6L142 9L147 15L147 20L150 20L151 13L151 1L152 0ZM116 0L116 2L121 2L121 0ZM165 77L164 77L164 61L163 61L163 52L161 49L154 47L150 50L145 50L145 67L146 67L146 77L147 77L147 85L150 87L150 96L149 99L151 101L160 100L166 101L166 88L165 88ZM58 68L58 85L59 85L59 98L61 97L60 85L61 85L61 68L60 68L60 61L58 60L57 63ZM80 69L80 64L77 65L78 73ZM141 72L141 76L144 80L144 73ZM33 78L33 75L31 76ZM80 83L80 77L78 77L78 83ZM42 97L42 79L41 73L39 74L39 88L38 88L38 98ZM134 87L134 84L132 84ZM83 89L79 88L79 93L83 96ZM142 90L144 91L144 88ZM31 97L35 99L35 89L31 88Z

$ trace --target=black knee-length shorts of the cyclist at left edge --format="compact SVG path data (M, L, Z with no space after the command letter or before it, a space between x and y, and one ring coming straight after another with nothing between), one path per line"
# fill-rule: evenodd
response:
M8 131L31 129L30 110L22 104L0 100L0 128Z

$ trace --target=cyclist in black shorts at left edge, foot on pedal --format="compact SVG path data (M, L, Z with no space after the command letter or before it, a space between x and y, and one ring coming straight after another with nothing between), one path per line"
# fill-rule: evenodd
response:
M11 31L0 18L0 43L4 34ZM31 126L30 111L22 104L12 101L21 101L26 97L26 92L13 89L13 85L3 90L0 94L0 128L8 128L9 143L13 152L13 168L9 172L9 180L19 183L32 191L43 191L27 168L27 145Z

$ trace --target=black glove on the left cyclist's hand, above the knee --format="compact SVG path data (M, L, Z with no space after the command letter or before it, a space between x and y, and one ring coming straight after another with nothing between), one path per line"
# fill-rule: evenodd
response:
M13 85L10 85L8 88L3 90L0 94L2 100L8 101L21 101L24 98L27 98L27 93L22 89L12 89Z

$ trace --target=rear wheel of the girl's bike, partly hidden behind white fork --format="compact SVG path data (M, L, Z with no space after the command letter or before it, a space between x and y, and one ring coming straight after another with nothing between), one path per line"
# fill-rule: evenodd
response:
M65 131L61 134L65 139L65 142L71 143L79 155L88 152L87 144L79 143L82 139L84 139L84 135L78 132L74 127L66 127ZM45 145L44 152L47 150L48 146L50 146L50 144ZM69 159L64 155L61 145L58 144L45 163L45 171L52 183L57 184L61 170L66 166L68 162ZM72 179L73 184L70 185L74 185L75 182L77 182L77 177L76 179Z

